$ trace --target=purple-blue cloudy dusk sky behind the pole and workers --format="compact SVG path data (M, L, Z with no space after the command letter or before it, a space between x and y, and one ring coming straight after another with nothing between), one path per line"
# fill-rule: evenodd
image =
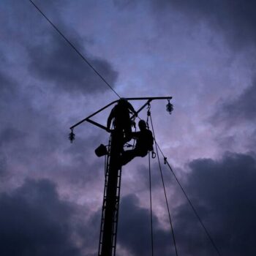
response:
M256 255L255 1L34 2L121 97L173 97L172 115L151 104L159 146L220 254ZM108 133L67 137L118 97L29 0L1 0L0 21L0 255L97 255ZM175 255L151 164L154 254ZM162 167L178 255L217 255ZM123 168L117 243L151 255L147 158Z

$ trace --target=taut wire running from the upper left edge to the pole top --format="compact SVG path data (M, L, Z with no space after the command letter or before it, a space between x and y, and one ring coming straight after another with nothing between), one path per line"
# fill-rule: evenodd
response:
M119 96L119 94L113 89L113 87L110 86L110 84L105 80L105 78L103 78L102 75L100 75L99 72L97 72L97 70L91 65L91 63L86 59L86 57L83 56L83 54L80 53L80 51L79 51L77 48L75 48L75 45L73 45L72 42L70 42L69 39L67 39L67 37L65 37L64 34L47 18L47 16L39 9L39 7L37 7L37 5L34 4L34 1L31 1L31 0L29 0L29 1L31 2L31 4L34 5L34 7L38 10L38 12L40 12L40 13L42 14L42 16L48 21L48 23L50 23L50 25L53 26L53 28L61 35L61 37L63 37L63 38L66 40L66 42L75 50L75 52L78 53L78 55L83 59L83 61L85 61L86 64L88 64L89 67L91 67L91 69L94 70L94 72L99 76L99 78L101 78L101 79L106 83L106 85L107 85L119 98L121 98L121 97Z

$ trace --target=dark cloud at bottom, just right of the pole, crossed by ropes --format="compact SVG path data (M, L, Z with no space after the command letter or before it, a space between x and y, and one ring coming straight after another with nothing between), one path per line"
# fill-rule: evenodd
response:
M132 255L151 255L150 211L140 208L138 197L127 195L121 200L118 243ZM156 255L170 255L171 235L159 227L159 221L153 215Z

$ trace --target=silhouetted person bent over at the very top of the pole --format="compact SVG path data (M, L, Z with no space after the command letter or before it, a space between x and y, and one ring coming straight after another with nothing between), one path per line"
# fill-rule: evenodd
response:
M127 99L121 98L118 100L118 104L115 105L108 116L108 130L110 130L111 121L113 121L115 131L124 132L124 143L132 138L132 121L130 120L129 116L130 112L137 116L135 109L127 101Z

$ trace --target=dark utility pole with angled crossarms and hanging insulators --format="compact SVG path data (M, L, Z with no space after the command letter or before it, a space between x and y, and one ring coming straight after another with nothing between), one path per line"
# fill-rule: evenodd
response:
M142 105L136 113L140 113L143 108L146 108L149 103L154 99L167 99L166 110L171 113L173 105L170 103L172 97L141 97L141 98L127 98L127 100L146 100L146 103ZM96 125L99 128L108 131L107 127L96 121L91 120L91 117L97 115L97 113L110 107L118 100L111 102L104 108L97 110L91 116L84 118L77 124L70 127L71 133L69 134L69 140L72 142L75 140L75 134L73 129L83 121L89 121L91 124ZM132 116L131 118L133 118ZM110 146L108 148L107 165L105 170L105 188L104 197L102 204L102 219L100 225L100 236L99 236L99 256L115 256L116 255L116 236L118 226L118 207L120 199L121 189L121 163L120 156L123 150L123 138L124 134L120 131L113 129L110 135Z

